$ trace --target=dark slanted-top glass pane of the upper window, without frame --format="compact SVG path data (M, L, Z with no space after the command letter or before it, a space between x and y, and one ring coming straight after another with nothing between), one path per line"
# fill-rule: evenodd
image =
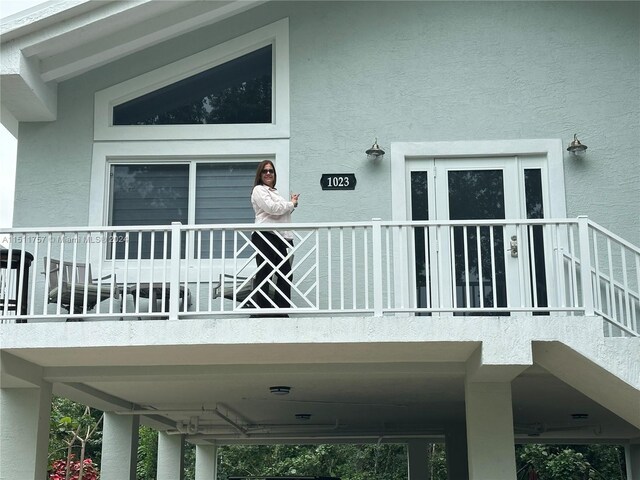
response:
M272 46L116 105L113 125L272 123Z

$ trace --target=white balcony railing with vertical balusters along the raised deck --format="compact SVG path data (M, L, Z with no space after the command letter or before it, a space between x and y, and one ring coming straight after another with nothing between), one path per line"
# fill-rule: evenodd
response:
M251 234L267 229L294 235L287 308L256 300ZM640 249L586 217L9 229L0 243L3 322L556 313L640 334Z

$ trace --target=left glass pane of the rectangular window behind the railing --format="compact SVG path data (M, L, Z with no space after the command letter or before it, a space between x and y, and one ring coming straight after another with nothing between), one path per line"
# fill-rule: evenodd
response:
M111 180L111 225L187 224L189 165L113 165ZM123 235L119 233L115 238ZM125 257L125 243L128 258L138 258L139 242L142 243L140 258L151 258L151 237L150 232L131 233L128 243L116 245L116 258ZM162 258L165 247L169 258L170 237L167 236L166 242L162 234L156 233L153 237L154 258ZM111 255L111 250L108 254Z

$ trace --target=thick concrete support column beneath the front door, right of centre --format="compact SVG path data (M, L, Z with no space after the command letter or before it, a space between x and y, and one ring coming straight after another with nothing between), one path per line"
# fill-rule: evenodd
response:
M514 480L511 384L465 383L469 480Z

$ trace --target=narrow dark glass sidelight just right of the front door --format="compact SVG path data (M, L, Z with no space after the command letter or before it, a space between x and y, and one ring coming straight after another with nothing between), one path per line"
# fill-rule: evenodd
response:
M542 171L539 168L527 168L524 171L525 204L527 218L544 218L544 204L542 197ZM547 272L544 261L544 236L542 225L532 225L528 238L529 257L532 285L535 285L536 297L531 298L531 304L547 307ZM537 302L537 303L536 303Z

